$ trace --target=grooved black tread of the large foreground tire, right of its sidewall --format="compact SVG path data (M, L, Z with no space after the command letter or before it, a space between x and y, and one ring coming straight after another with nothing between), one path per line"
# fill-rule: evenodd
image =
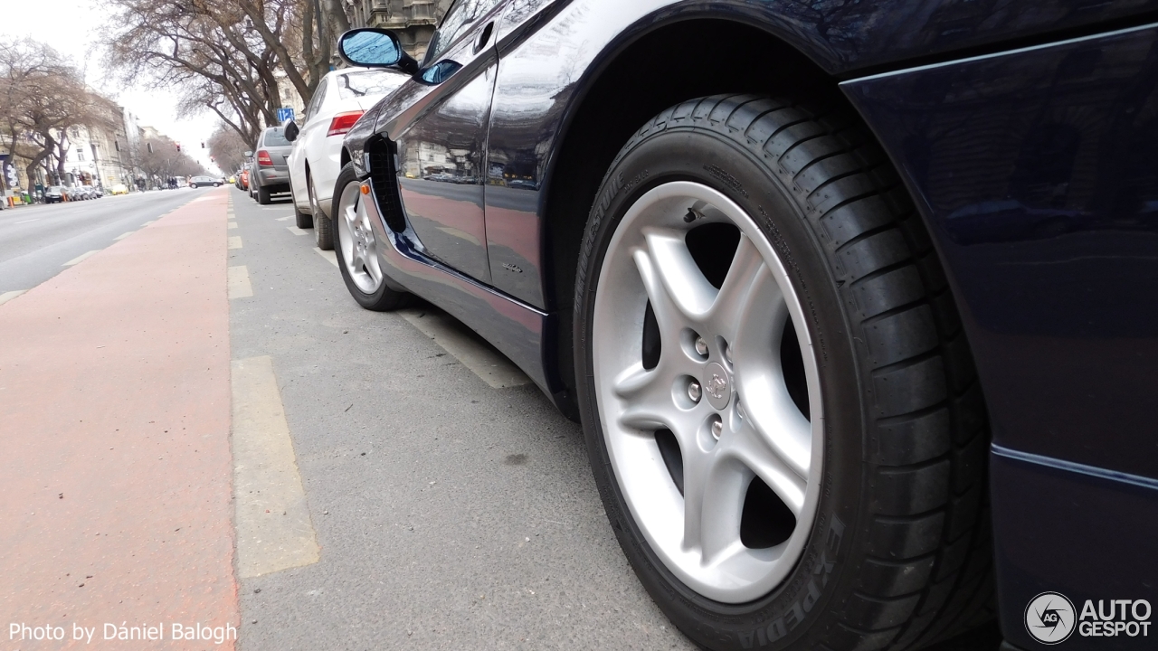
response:
M829 251L850 320L874 332L862 343L875 402L868 568L824 648L919 649L991 619L984 401L945 272L888 158L842 110L758 95L672 107L623 152L670 129L763 159Z

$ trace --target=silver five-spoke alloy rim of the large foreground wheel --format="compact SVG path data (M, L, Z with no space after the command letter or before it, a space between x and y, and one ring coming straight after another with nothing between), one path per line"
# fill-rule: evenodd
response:
M709 222L740 231L719 290L684 240ZM661 341L651 370L640 345L648 301ZM811 420L789 395L780 366L789 319L804 360ZM805 323L768 239L740 206L706 185L680 181L650 190L626 211L608 244L595 294L592 361L611 468L652 550L709 599L740 604L767 594L800 558L815 520L823 410ZM661 429L680 444L682 495L655 440ZM770 548L748 548L740 537L754 477L796 517L789 539Z

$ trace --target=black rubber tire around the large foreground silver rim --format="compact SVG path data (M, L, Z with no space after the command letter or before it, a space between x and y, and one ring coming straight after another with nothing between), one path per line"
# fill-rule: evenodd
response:
M787 578L741 605L692 592L659 561L626 509L595 403L592 313L609 240L636 198L674 180L760 215L820 343L819 512ZM994 616L989 432L968 343L910 198L855 118L750 95L692 100L653 118L620 152L592 209L574 346L608 519L644 587L696 643L919 649Z

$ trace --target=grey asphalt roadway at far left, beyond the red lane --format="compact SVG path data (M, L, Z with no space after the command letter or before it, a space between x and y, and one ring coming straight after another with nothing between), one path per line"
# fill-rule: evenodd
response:
M0 211L0 294L27 291L65 264L207 190L163 190Z

